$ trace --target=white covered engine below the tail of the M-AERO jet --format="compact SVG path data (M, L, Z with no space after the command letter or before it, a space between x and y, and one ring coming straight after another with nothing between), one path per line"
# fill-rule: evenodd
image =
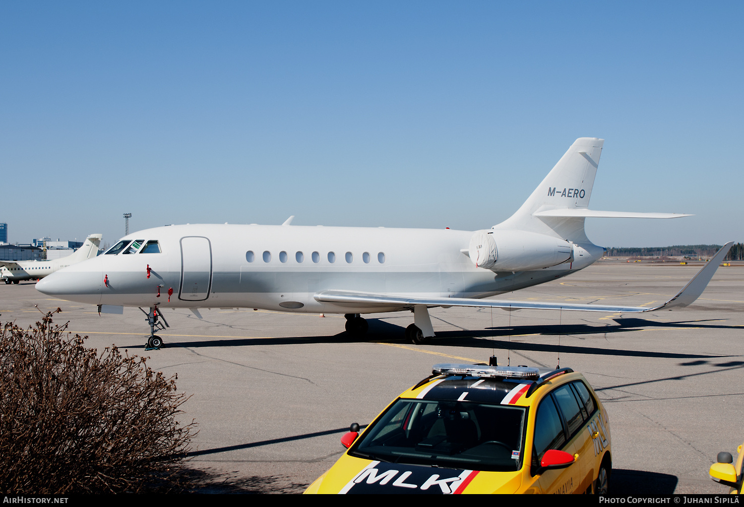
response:
M492 271L530 271L574 260L574 244L559 237L513 230L476 231L470 238L472 264Z

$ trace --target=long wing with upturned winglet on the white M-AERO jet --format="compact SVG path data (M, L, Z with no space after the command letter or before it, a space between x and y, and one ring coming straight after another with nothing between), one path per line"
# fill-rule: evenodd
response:
M571 304L571 303L536 303L525 301L508 301L504 299L467 299L467 298L411 298L408 296L394 296L388 294L376 293L359 293L348 290L324 290L315 294L315 300L318 302L333 303L339 306L349 308L364 306L391 306L391 307L414 307L416 305L425 305L426 307L436 306L464 306L464 307L496 307L507 310L518 309L536 309L536 310L581 310L604 313L642 313L662 308L685 307L694 302L708 286L708 282L713 278L713 273L718 269L719 264L731 249L733 241L729 241L713 255L708 264L702 268L692 280L687 282L679 293L672 299L656 307L638 307L638 306L613 306L609 304Z

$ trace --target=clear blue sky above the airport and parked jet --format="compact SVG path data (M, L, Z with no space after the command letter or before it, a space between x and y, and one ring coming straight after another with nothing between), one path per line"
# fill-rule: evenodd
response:
M744 240L741 2L4 1L11 241L482 229L605 138L603 246Z

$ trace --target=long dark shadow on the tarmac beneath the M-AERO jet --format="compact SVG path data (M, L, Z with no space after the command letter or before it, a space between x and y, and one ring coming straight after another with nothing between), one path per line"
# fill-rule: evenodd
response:
M564 324L564 325L527 325L513 326L512 328L489 328L477 331L438 331L437 337L432 339L431 345L439 346L456 346L469 348L501 348L511 349L513 351L539 351L554 352L561 351L565 354L594 354L608 356L625 356L625 357L667 357L678 359L711 359L716 356L713 354L682 354L676 352L655 352L655 351L637 351L624 350L618 348L600 348L586 347L578 345L567 345L562 343L558 345L559 336L576 337L582 334L606 334L614 332L643 331L639 327L679 327L679 328L717 328L717 329L741 329L740 326L728 325L704 325L704 321L680 321L680 322L654 322L646 319L616 319L618 325L589 325L589 324ZM353 337L347 332L342 332L330 337L278 337L278 338L228 338L228 339L203 339L188 342L176 342L169 339L167 333L162 334L165 339L164 348L168 347L244 347L257 345L307 345L312 343L363 343L363 342L388 342L388 343L408 343L403 337L403 328L399 325L385 322L382 319L368 319L369 331L365 337ZM524 335L542 335L556 337L555 343L534 343L525 341L512 341L504 339L505 337L522 335L520 340L524 340ZM176 338L176 337L173 337ZM499 339L497 339L499 338ZM426 345L425 345L426 346ZM134 345L129 348L139 348L144 345Z

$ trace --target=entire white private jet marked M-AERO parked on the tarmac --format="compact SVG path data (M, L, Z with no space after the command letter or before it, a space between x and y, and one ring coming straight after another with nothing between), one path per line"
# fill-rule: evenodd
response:
M431 307L539 308L647 312L683 307L708 285L727 243L676 296L657 307L621 307L484 299L555 280L603 256L586 237L587 217L673 218L673 213L589 209L603 139L579 138L508 220L491 229L386 229L185 225L128 235L104 255L55 272L36 289L69 301L149 308L150 339L164 329L162 309L263 308L344 313L346 329L365 334L362 313L408 310L406 337L434 336ZM164 322L160 322L158 319Z

